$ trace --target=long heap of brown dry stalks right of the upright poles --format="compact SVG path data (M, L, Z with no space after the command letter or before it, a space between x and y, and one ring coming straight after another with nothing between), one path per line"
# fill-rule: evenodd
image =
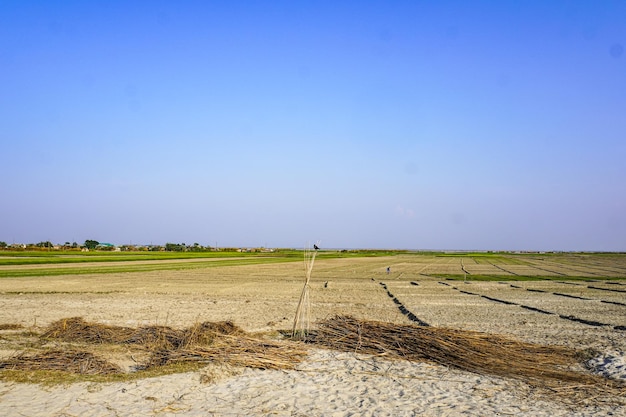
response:
M578 352L503 336L427 326L398 325L336 316L319 323L312 342L331 349L425 361L481 375L522 380L554 392L620 395L626 386L572 368Z

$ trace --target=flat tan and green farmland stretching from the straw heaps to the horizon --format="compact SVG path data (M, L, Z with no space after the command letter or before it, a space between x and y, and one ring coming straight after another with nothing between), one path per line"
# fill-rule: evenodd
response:
M0 323L46 325L82 316L121 325L233 320L251 331L287 329L304 266L298 258L279 260L109 260L50 264L52 269L45 263L4 265ZM145 266L150 269L134 271ZM39 270L46 275L21 276ZM625 335L625 277L626 256L612 254L320 256L311 280L312 322L334 314L410 322L398 308L401 301L432 325L568 344L578 339L555 333L576 333L580 342L593 344L604 340L595 334L605 334L613 345Z

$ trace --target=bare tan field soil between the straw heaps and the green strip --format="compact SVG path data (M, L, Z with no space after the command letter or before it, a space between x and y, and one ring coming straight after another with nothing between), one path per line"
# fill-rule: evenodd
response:
M620 258L621 259L621 258ZM193 260L192 260L193 261ZM584 260L575 260L579 264ZM171 261L166 261L171 262ZM187 261L191 262L191 261ZM427 273L459 273L479 268L471 259L397 255L317 260L310 289L311 322L335 314L393 323L411 323L385 283L410 312L431 325L512 335L520 340L576 348L626 350L626 281L567 281L564 266L533 259L534 266L559 272L562 281L445 281ZM106 265L106 263L104 264ZM391 267L391 273L386 268ZM516 265L499 265L512 269ZM25 266L26 267L26 266ZM496 272L489 266L489 272ZM589 268L618 272L605 262ZM583 266L576 265L580 270ZM511 275L514 277L514 275ZM599 278L599 277L598 277ZM441 282L449 285L443 285ZM186 327L196 322L231 320L252 332L291 329L304 283L302 262L219 266L189 270L128 272L0 280L0 324L43 327L67 317L123 326ZM417 285L415 285L417 284ZM616 284L616 285L615 285ZM539 291L528 291L539 290ZM472 293L466 294L461 291ZM569 298L557 294L569 294ZM481 295L515 303L494 302ZM611 303L612 302L612 303ZM617 303L617 304L615 304ZM551 315L521 308L548 311ZM575 316L607 326L565 320Z

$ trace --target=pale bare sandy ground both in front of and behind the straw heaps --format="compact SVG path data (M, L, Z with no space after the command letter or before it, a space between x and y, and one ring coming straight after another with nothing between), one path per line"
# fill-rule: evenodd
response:
M434 263L411 257L318 260L311 283L311 320L350 314L410 323L392 294L433 326L594 349L597 354L591 365L596 372L626 380L626 331L620 328L626 325L626 293L612 291L626 286L599 280L592 286L601 289L594 289L588 283L567 282L566 276L563 282L441 281L424 275L436 270ZM392 267L390 274L387 266ZM445 267L456 268L449 259ZM76 316L125 326L187 327L200 321L232 320L247 331L272 332L291 328L303 282L301 263L6 278L0 281L0 324L40 328ZM0 355L15 353L1 346ZM602 399L564 404L519 381L425 363L311 350L292 371L207 367L133 382L60 387L0 382L0 414L626 416L626 404Z

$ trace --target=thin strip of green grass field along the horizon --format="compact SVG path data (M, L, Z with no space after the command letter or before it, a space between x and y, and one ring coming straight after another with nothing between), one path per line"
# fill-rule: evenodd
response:
M389 250L320 251L318 259L389 257L424 275L473 281L626 279L626 254L437 253ZM185 270L301 262L301 250L273 252L0 251L0 278ZM412 269L413 267L409 268ZM467 271L467 273L466 273Z

